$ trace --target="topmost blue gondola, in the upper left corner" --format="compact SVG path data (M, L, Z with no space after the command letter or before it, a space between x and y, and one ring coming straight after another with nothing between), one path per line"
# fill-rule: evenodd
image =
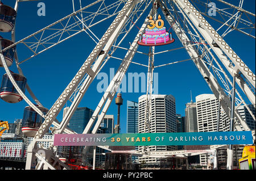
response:
M14 28L16 11L7 5L0 5L0 31L10 32Z

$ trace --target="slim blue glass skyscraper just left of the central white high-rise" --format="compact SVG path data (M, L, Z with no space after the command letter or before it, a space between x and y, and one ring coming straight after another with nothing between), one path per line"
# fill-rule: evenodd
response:
M127 133L138 133L138 103L127 100Z

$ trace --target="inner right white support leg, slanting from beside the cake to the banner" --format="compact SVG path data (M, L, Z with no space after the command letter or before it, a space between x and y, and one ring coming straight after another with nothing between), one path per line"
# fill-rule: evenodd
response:
M159 2L161 5L160 7L164 13L164 10L166 9L166 7L163 6L161 1L159 1ZM171 17L170 13L168 15L166 13L164 13L164 16L166 16L166 19L170 25L175 22L175 20ZM185 34L184 30L182 30L180 28L179 22L176 22L175 24L173 24L173 30L175 31L176 35L179 37L179 40L181 41L181 43L183 45L187 45L186 43L188 43L189 38ZM229 97L225 94L225 91L218 84L218 82L213 77L212 73L210 73L209 69L204 64L204 62L201 60L201 58L200 57L198 58L199 53L197 52L197 50L193 47L186 47L185 49L187 50L189 56L191 56L193 62L195 62L195 65L196 65L197 69L199 69L201 75L203 75L204 78L207 78L207 79L205 79L205 81L207 82L210 89L213 91L213 94L216 96L216 98L223 99L223 101L221 102L221 106L224 109L224 111L226 113L228 113L228 115L229 115L229 111L231 110L231 102L230 102ZM245 121L242 119L242 117L237 112L236 112L236 117L242 124L243 128L245 128L246 131L249 131L250 128L247 126ZM238 128L238 127L237 127L237 129L241 130L241 128Z

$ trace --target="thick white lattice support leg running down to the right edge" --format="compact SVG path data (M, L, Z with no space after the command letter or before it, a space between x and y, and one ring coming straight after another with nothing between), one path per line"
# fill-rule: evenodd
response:
M189 3L188 0L183 1L174 1L177 6L180 6L183 12L189 17L194 26L200 31L201 35L208 41L208 44L213 49L213 51L217 54L220 61L224 64L229 73L233 76L233 73L241 73L254 87L255 89L255 75L254 73L245 65L245 63L241 60L240 57L234 52L234 50L229 47L226 41L214 30L212 26L204 19L204 17L200 14L199 11ZM212 42L217 43L219 48L213 47ZM230 62L227 61L227 58L223 56L223 52L227 57L233 62L234 66L230 67ZM252 104L255 104L255 95L254 92L247 87L243 78L238 77L237 79L238 85L240 85L243 92L246 94L247 98L250 100Z

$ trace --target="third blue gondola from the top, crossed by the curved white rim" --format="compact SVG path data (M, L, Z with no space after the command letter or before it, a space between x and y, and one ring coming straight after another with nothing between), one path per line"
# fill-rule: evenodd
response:
M20 87L20 89L25 92L26 90L26 84L27 79L19 74L13 74L13 78ZM5 100L5 102L8 103L18 103L22 100L22 96L19 95L18 91L13 86L13 83L11 83L9 77L7 74L3 75L1 87L0 87L0 96L1 99Z

